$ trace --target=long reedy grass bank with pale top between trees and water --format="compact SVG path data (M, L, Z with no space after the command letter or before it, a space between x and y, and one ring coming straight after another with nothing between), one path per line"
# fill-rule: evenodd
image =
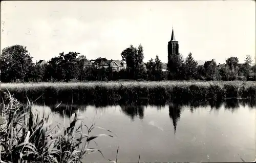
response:
M3 83L18 100L53 98L66 102L92 102L123 99L137 101L195 100L224 98L255 99L253 81L132 81L132 82L74 82L74 83Z

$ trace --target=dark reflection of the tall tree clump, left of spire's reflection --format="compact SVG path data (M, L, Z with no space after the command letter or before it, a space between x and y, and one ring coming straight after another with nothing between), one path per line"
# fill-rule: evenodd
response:
M131 104L131 105L120 105L121 110L125 115L128 115L131 117L132 120L134 120L135 117L139 115L139 119L144 118L144 106L142 105L136 105L136 104Z

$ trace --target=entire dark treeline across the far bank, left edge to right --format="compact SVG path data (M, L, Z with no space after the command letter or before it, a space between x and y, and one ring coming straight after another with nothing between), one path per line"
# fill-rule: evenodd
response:
M255 80L255 64L246 56L244 64L239 64L237 57L230 57L226 64L218 66L214 60L198 65L191 53L183 60L179 55L169 56L168 71L162 71L162 62L156 55L147 63L143 63L143 47L130 45L121 53L126 61L126 69L119 72L109 68L84 68L86 56L76 52L60 53L48 64L40 65L32 62L32 57L25 46L13 45L3 49L1 55L1 81L71 81L71 80ZM106 61L106 58L97 58Z

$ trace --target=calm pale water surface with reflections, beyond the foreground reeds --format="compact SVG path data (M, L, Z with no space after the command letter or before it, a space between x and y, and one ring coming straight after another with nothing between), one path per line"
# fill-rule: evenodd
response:
M40 113L50 113L54 124L68 125L67 105L35 105ZM71 106L67 106L70 110ZM252 161L256 154L256 107L242 103L219 106L188 106L170 103L162 106L115 105L96 107L73 105L80 110L84 124L113 131L117 136L99 137L91 148L100 149L114 160L119 147L119 162ZM84 128L84 131L86 129ZM93 134L108 132L95 129ZM240 156L239 156L239 155ZM108 162L100 153L84 157L84 162Z

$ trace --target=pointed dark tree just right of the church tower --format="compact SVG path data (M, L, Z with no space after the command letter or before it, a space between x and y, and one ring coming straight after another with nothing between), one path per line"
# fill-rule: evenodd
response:
M192 57L192 53L189 53L185 60L185 77L187 80L195 79L197 76L197 61Z

